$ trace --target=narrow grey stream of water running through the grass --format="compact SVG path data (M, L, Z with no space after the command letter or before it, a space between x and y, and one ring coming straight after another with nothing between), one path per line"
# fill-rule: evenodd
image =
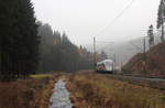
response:
M64 79L59 79L53 89L53 95L50 99L50 108L72 108L73 105L69 99L69 91L65 87Z

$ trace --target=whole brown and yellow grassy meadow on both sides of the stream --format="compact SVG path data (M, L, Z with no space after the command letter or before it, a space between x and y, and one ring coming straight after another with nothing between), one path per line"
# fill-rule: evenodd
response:
M48 108L54 84L64 78L74 108L165 108L165 90L98 74L43 74L0 83L0 108Z

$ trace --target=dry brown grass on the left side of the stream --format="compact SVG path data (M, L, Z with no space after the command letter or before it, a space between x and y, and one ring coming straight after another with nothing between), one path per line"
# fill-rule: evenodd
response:
M30 79L0 83L0 108L48 108L58 75L33 75Z

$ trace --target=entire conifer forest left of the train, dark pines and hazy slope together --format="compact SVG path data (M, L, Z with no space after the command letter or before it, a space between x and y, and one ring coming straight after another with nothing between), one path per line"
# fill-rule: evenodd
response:
M92 53L35 18L31 0L0 0L0 79L94 67ZM98 54L99 56L99 54Z

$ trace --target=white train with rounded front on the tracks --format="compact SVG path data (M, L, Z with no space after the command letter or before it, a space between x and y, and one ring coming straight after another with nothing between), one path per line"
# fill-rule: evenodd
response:
M98 62L96 65L96 72L112 74L113 73L113 61L105 60L105 61Z

